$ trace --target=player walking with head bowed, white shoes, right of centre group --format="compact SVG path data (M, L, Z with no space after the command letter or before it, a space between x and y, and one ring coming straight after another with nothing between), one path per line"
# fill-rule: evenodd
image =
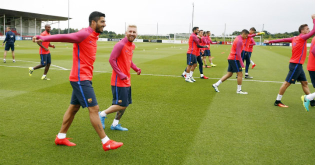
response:
M228 61L228 68L227 73L221 77L216 83L212 84L212 87L216 92L219 92L218 85L222 82L224 82L227 78L231 77L233 75L233 72L236 72L237 74L237 90L236 93L239 94L247 94L247 92L244 92L241 90L241 82L242 82L242 67L244 67L243 61L241 60L240 51L243 49L243 40L247 38L249 34L249 31L246 29L243 29L241 31L241 34L236 36L231 51L227 57Z

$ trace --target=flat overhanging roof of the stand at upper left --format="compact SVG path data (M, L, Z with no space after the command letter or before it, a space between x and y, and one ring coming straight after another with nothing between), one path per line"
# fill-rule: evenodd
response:
M0 8L0 16L2 16L3 14L5 14L5 17L21 17L22 16L22 18L30 18L30 19L36 18L36 20L39 20L39 21L68 20L68 17L63 17L63 16L45 15L45 14L39 14L39 13L33 13L33 12L15 11L15 10Z

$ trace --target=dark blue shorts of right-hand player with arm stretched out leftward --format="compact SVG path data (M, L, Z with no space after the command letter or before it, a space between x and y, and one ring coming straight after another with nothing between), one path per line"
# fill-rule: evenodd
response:
M285 81L289 83L295 83L295 81L306 81L306 76L303 70L303 66L300 63L289 64L289 72L285 78Z

